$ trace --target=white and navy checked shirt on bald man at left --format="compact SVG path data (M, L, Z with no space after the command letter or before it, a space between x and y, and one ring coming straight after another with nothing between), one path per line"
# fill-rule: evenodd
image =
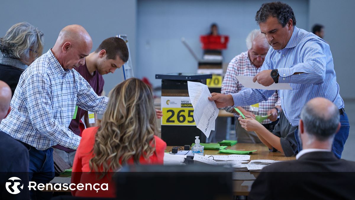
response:
M81 137L68 128L75 106L103 114L107 102L76 70L64 70L50 49L22 73L0 130L39 150L76 149Z

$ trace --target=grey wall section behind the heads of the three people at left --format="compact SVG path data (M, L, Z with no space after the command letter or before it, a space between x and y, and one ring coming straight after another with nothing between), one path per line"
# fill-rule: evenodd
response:
M135 47L136 16L135 0L6 0L1 1L0 36L15 23L27 21L44 32L47 52L63 27L80 24L92 37L93 51L104 39L119 33L127 34L130 47ZM135 48L131 48L131 56L135 64ZM106 93L120 83L120 72L104 76Z

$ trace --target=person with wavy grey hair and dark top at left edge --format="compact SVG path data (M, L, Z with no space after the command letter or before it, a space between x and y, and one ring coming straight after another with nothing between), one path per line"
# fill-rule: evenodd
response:
M0 38L0 80L15 92L22 72L43 51L43 32L28 22L16 23Z

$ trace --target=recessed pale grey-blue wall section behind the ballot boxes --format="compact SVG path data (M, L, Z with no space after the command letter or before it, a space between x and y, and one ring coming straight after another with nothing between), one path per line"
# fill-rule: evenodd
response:
M246 51L245 38L258 28L256 11L265 0L138 0L137 77L148 77L155 86L157 73L196 73L197 62L181 43L185 37L197 56L202 58L200 35L209 32L212 22L219 32L229 35L224 62ZM308 28L308 0L285 0L294 10L297 26Z

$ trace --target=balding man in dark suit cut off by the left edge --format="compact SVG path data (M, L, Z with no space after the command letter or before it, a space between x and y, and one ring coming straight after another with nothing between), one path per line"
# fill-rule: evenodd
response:
M9 85L0 80L0 123L11 110L10 101L11 89ZM0 199L29 199L29 190L27 187L28 149L1 130L0 160ZM17 177L18 179L13 177ZM7 188L14 194L9 193L6 183L10 183L10 185L7 185ZM17 193L18 191L20 193Z

